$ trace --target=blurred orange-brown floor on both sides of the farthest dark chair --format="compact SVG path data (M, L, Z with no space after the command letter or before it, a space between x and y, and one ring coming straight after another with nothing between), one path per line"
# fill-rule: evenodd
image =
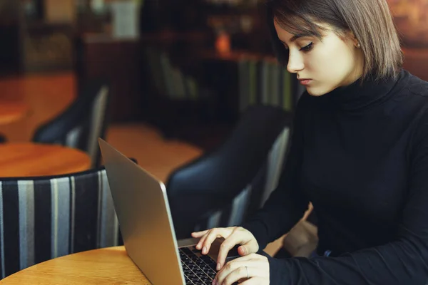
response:
M31 110L16 123L0 125L0 133L10 141L31 140L41 123L54 118L72 102L75 86L71 73L0 79L0 98L24 100ZM111 125L107 141L163 181L175 167L202 152L199 147L185 142L165 141L156 129L142 123Z

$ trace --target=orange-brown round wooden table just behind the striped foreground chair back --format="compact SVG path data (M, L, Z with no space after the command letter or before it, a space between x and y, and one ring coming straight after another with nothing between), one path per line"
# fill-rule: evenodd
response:
M75 148L35 142L0 143L0 177L63 175L90 167L91 157Z

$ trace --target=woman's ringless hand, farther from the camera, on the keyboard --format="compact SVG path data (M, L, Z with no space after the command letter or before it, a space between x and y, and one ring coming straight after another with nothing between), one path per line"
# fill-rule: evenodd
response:
M241 257L256 253L259 249L258 242L255 240L253 234L243 227L218 227L207 229L202 232L193 232L192 237L200 238L198 244L196 244L196 249L202 249L202 254L208 254L208 252L210 252L211 244L215 239L219 237L225 239L220 245L220 250L218 252L217 270L223 268L228 252L235 247L236 244L241 245L238 247L238 254Z

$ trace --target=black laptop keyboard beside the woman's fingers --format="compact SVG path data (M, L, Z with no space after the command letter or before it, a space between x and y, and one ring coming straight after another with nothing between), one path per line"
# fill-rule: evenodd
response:
M197 253L197 254L195 254ZM183 266L185 284L211 285L217 272L215 261L210 257L200 254L195 247L180 249L181 265Z

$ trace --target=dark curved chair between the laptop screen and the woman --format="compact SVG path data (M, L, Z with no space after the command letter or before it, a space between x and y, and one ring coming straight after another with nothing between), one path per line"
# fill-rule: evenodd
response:
M271 180L279 176L290 117L280 108L254 105L217 150L170 174L166 189L178 239L190 237L194 230L236 224L260 207L266 182L274 188ZM269 155L280 139L280 151L272 153L272 162ZM274 166L276 178L267 175L268 164ZM240 219L233 221L236 215Z

